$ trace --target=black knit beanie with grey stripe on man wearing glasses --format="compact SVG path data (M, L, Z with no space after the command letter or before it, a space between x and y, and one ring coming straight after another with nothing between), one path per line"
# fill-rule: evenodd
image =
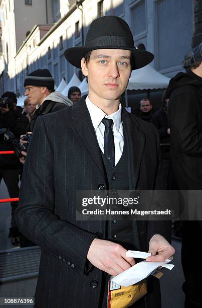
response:
M37 69L26 76L24 87L26 86L47 87L48 89L54 89L55 82L48 69Z

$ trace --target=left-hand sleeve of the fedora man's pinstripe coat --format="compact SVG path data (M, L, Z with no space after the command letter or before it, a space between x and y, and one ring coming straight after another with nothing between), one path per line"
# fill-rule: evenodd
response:
M16 219L20 231L61 261L66 260L82 276L87 253L96 235L61 220L54 213L54 153L43 116L36 121L26 158Z

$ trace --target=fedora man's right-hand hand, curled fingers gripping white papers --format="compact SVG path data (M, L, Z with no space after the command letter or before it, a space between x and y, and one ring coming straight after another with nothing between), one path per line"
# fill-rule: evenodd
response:
M161 235L153 236L149 242L150 257L146 258L149 262L163 262L166 259L173 259L174 248Z

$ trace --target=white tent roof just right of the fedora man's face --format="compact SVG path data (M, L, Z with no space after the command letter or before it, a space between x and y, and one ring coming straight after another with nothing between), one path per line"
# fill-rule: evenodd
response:
M126 90L163 89L167 88L169 80L148 64L132 71Z

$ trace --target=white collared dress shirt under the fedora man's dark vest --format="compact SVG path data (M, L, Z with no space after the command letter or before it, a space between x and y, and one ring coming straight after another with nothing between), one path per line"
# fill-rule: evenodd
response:
M115 166L116 166L123 152L123 123L121 121L121 104L119 104L119 109L116 112L110 114L109 116L106 115L106 113L103 110L101 110L99 107L93 104L88 96L86 98L86 105L90 113L93 127L95 129L98 144L103 153L104 153L105 126L102 123L102 119L106 117L107 119L113 120L112 131L114 134Z

